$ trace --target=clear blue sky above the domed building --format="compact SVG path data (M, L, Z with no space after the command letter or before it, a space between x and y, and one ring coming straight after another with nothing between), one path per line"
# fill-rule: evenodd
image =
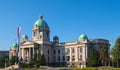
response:
M17 27L31 40L40 15L48 23L51 40L75 41L84 33L89 39L108 39L113 46L120 36L119 0L0 0L0 50L9 50Z

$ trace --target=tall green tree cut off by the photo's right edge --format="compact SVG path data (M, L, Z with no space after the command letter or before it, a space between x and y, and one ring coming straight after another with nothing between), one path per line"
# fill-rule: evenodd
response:
M115 45L111 50L112 61L116 67L120 67L120 37L116 40Z

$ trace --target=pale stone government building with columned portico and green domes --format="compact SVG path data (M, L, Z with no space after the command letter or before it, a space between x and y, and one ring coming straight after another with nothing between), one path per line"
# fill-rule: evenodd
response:
M101 47L110 46L106 39L88 39L85 34L81 34L76 41L61 43L57 35L51 41L50 28L42 16L33 25L32 40L28 40L27 35L22 38L20 55L23 62L30 62L35 53L41 52L50 66L87 67L92 49L99 51ZM9 58L16 55L16 48L17 44L10 48Z

